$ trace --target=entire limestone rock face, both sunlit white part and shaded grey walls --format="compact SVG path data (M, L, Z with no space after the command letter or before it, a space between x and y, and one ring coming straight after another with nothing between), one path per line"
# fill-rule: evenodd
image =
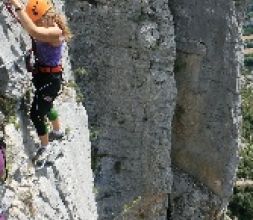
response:
M10 169L0 212L13 220L222 219L240 142L235 1L54 2L74 36L56 101L66 137L52 143L42 170L31 163L29 37L0 3L0 135Z

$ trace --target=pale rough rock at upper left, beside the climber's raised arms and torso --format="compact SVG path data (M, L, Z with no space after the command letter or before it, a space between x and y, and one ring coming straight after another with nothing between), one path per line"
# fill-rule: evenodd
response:
M23 60L24 52L29 48L29 38L18 24L14 24L3 2L0 2L0 10L0 94L20 97L25 92L29 77Z

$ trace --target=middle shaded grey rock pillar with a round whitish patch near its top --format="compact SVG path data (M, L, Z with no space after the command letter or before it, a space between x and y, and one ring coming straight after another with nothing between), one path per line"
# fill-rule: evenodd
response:
M93 141L99 219L165 219L175 42L166 0L67 1ZM129 208L131 207L131 208Z

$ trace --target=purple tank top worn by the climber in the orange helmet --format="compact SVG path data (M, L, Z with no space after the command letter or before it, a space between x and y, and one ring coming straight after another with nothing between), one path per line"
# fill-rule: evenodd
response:
M61 64L63 43L57 47L45 42L35 41L36 58L39 65L57 66Z

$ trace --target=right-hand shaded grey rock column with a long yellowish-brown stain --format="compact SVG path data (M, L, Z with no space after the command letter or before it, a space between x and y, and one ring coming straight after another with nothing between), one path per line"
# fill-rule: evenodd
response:
M224 208L220 204L227 204L232 194L239 146L240 23L234 1L176 0L170 6L176 26L178 88L172 162L191 175L191 182L197 180L218 195L206 199L205 190L191 184L174 200L173 219L210 219L210 209L202 217L191 217L187 210L195 204L199 213L209 205L218 215ZM184 175L175 173L172 197Z

